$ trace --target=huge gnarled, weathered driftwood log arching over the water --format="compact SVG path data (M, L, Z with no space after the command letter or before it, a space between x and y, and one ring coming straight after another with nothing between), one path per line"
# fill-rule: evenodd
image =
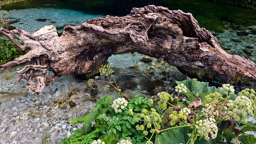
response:
M256 83L256 64L227 54L211 32L200 28L192 14L161 6L133 8L124 17L104 16L86 20L80 26L67 25L60 37L54 26L45 26L33 34L19 28L1 28L0 34L25 53L1 65L1 70L29 61L18 71L17 81L26 79L29 89L37 94L60 76L93 73L112 54L126 52L165 60L194 77L232 84ZM54 76L45 76L48 70Z

